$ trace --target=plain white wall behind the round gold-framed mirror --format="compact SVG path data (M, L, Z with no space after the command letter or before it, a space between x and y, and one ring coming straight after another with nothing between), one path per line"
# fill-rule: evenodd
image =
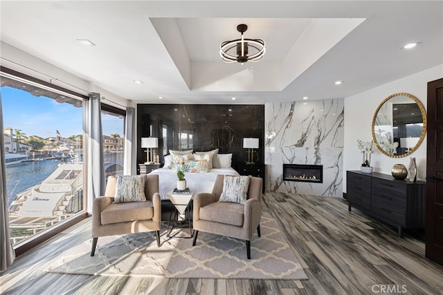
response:
M404 92L417 97L427 111L427 83L440 78L443 78L443 64L345 98L344 192L346 192L346 170L359 170L361 166L361 152L356 140L370 141L372 139L372 117L379 104L391 94ZM409 157L404 158L390 158L381 154L376 148L372 154L371 166L374 167L374 172L390 175L394 164L401 163L408 168L410 157L415 157L417 179L424 180L426 178L426 143L427 134L422 145Z

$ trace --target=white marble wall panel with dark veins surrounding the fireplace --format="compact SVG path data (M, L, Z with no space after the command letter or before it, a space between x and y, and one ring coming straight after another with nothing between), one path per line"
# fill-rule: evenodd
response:
M265 105L267 190L341 197L343 105L341 98ZM323 184L283 181L283 163L323 165Z

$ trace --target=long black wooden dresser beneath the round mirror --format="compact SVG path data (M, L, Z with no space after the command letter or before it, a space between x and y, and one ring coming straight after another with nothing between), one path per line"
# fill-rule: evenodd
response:
M392 175L360 171L346 172L348 210L363 213L403 229L424 229L426 182L394 179Z

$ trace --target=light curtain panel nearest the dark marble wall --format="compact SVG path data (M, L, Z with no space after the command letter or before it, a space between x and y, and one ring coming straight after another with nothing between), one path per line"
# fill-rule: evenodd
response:
M134 107L126 108L125 122L125 175L136 175L136 109Z

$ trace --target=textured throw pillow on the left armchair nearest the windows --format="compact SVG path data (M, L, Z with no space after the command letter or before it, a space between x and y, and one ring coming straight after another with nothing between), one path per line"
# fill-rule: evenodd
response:
M146 175L125 175L117 177L114 202L145 202Z

